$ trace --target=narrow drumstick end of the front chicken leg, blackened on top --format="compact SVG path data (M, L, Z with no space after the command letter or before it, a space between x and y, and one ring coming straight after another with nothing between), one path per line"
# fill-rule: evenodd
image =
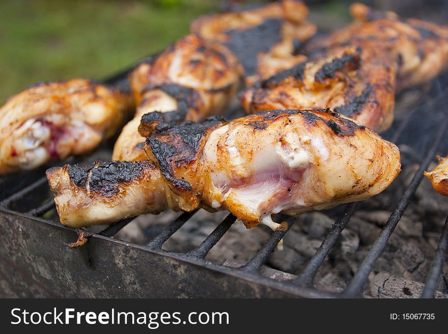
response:
M46 174L61 223L74 228L158 213L167 206L160 172L147 160L65 165Z

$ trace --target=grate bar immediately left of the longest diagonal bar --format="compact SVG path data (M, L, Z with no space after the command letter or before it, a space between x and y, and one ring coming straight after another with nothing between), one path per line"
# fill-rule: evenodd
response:
M313 285L313 281L319 267L322 265L322 262L334 246L335 242L338 240L348 222L350 222L357 205L358 203L347 204L343 214L338 218L333 226L331 226L328 235L325 237L324 241L322 241L322 245L320 245L316 254L311 258L310 262L308 262L301 274L294 280L294 284L304 287L311 287Z

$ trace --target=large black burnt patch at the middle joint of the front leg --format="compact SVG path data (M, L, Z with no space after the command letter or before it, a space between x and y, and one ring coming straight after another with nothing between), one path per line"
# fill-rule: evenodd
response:
M154 118L156 116L153 116ZM220 116L207 117L202 123L189 120L179 125L156 122L153 133L146 139L160 172L174 188L190 191L190 184L175 176L176 168L187 166L198 158L205 136L217 126L226 123Z

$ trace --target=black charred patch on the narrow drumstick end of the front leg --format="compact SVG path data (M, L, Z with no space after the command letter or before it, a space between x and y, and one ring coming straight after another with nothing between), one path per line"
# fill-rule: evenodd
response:
M153 169L149 161L96 162L87 166L69 165L70 180L77 186L104 196L114 196L120 192L119 186L140 179L145 170ZM90 175L90 176L89 176Z

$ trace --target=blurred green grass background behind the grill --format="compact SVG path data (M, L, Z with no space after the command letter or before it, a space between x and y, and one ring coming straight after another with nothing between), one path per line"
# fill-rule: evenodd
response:
M227 1L232 2L237 1ZM305 2L321 31L350 21L352 1ZM443 9L442 18L448 8L440 6L443 0L363 2L427 19L432 5ZM114 74L163 50L188 33L191 20L223 4L225 0L0 0L0 104L39 81Z

